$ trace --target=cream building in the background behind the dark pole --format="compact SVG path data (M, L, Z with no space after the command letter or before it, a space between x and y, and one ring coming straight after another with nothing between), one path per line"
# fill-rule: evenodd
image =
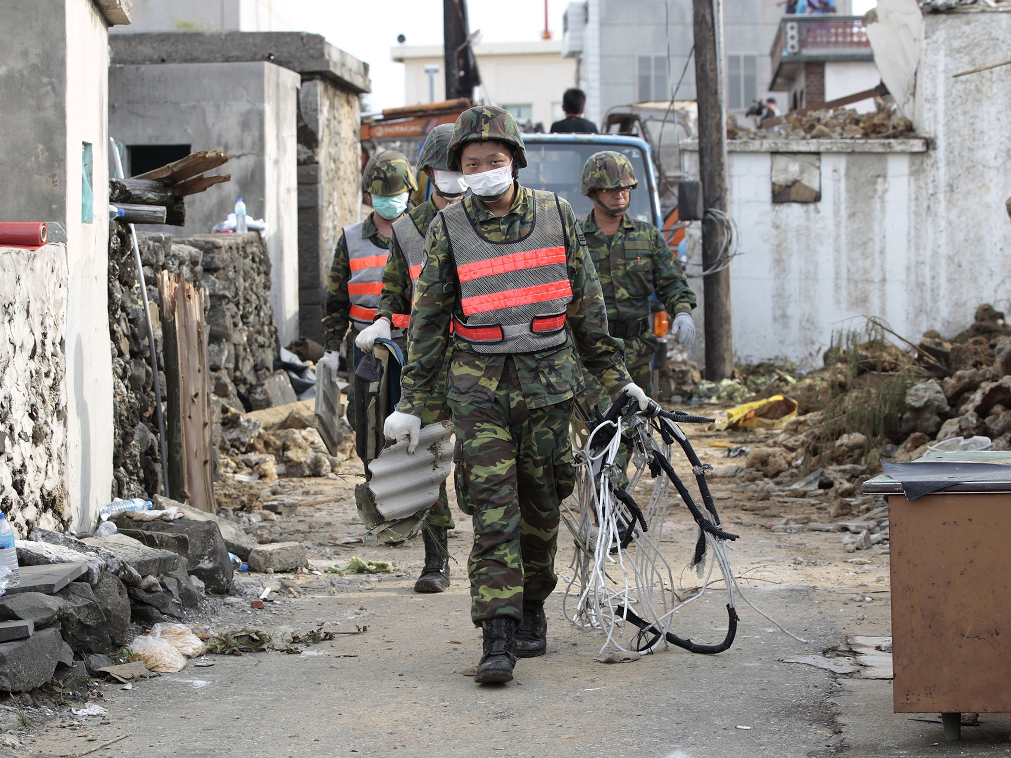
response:
M551 39L475 44L481 74L477 97L505 108L521 123L541 123L548 130L563 116L562 93L575 86L575 61L561 52L561 41ZM446 99L441 44L400 45L390 50L390 57L404 65L405 105Z

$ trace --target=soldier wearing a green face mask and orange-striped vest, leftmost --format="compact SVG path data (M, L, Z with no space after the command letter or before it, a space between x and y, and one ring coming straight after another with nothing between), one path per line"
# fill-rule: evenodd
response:
M377 153L362 173L362 200L375 210L364 221L345 226L337 243L330 267L327 301L323 319L326 354L317 368L335 377L340 363L338 353L345 336L347 342L348 407L355 406L355 338L375 316L382 291L382 269L389 255L392 222L407 208L407 195L418 188L407 159L395 151ZM404 317L406 315L404 314ZM351 328L348 328L349 322ZM397 329L395 337L402 337ZM353 410L348 422L355 425Z

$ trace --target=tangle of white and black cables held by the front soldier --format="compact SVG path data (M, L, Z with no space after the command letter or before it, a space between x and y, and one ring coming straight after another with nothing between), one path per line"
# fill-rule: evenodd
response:
M578 512L563 504L563 519L575 543L569 565L573 573L562 600L566 618L579 628L603 631L606 640L602 653L609 649L651 653L661 646L674 645L692 653L715 654L733 645L739 621L735 602L740 597L780 631L806 642L757 608L734 577L727 543L737 540L737 535L724 530L706 481L706 470L711 467L700 461L680 428L681 423L710 423L712 419L663 410L654 401L646 410L639 410L627 395L616 400L603 415L594 408L594 414L587 424L589 435L574 456ZM692 466L701 503L696 502L670 463L675 443ZM619 485L623 472L616 465L623 444L630 449L627 488ZM643 506L631 493L647 472L655 484ZM698 593L684 599L674 590L670 565L660 552L670 485L699 527L690 566L700 577L705 574ZM715 558L708 571L707 554ZM670 629L675 614L706 595L716 566L720 567L727 592L724 639L700 644L677 636ZM570 597L578 598L574 611L570 611ZM620 622L635 628L633 639L624 639Z

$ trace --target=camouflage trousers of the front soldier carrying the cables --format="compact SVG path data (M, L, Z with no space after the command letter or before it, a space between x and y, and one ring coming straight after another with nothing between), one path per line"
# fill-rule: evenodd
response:
M559 503L572 492L572 400L528 408L512 361L490 407L450 399L456 432L456 491L473 518L470 617L523 618L523 601L544 600L558 582ZM508 385L508 386L507 386Z

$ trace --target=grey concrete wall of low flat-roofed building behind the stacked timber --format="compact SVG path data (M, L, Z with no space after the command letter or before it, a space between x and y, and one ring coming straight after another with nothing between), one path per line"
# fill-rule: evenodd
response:
M299 76L270 63L116 66L109 71L112 134L124 145L222 150L232 181L186 200L175 236L207 232L243 197L270 224L271 300L278 336L298 336L297 96ZM128 169L127 169L128 173Z

